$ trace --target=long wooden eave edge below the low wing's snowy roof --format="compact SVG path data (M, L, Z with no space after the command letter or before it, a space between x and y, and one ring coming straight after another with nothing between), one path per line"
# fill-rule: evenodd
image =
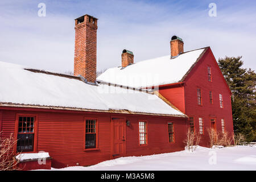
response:
M42 105L26 105L26 104L15 104L11 102L0 102L0 106L3 107L28 107L34 109L50 109L50 110L72 110L72 111L93 111L98 113L118 113L118 114L141 114L141 115L159 115L159 116L167 116L167 117L180 117L180 118L188 118L187 115L182 114L157 114L157 113L143 113L143 112L134 112L130 110L99 110L99 109L82 109L77 107L58 107L58 106L42 106Z

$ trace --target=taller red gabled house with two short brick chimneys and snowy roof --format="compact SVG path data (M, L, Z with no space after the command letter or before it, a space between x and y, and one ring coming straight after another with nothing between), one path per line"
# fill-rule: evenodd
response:
M184 52L183 44L172 36L171 55L138 63L134 63L133 52L124 50L122 67L106 70L97 81L159 90L188 115L191 129L201 134L200 145L208 146L210 127L233 135L232 93L210 47Z

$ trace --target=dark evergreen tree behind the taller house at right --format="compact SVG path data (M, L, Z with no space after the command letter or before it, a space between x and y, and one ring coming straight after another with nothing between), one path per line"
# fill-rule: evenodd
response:
M242 68L242 56L218 59L218 65L232 91L234 133L242 133L247 142L256 141L256 74Z

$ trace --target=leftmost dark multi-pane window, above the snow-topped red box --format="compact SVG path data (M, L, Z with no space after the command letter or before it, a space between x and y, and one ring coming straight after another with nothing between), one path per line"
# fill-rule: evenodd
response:
M19 117L17 152L34 151L35 117Z

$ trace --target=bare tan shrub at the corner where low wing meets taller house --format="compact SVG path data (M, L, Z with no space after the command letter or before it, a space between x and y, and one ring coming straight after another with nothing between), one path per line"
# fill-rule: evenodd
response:
M186 145L186 147L188 148L188 151L195 151L196 147L199 145L200 143L200 134L199 133L195 133L191 132L190 129L188 129L187 131L187 138L184 140L184 143Z

